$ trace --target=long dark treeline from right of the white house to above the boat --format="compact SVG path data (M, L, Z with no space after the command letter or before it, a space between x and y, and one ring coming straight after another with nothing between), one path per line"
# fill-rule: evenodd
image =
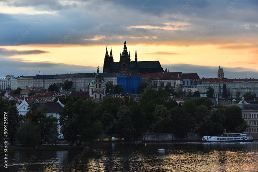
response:
M60 114L60 123L65 139L71 144L114 133L136 139L146 133L174 133L184 137L194 133L223 134L224 129L238 133L245 130L237 106L214 106L208 97L186 99L180 106L170 98L170 93L149 86L139 102L130 94L124 96L124 101L118 97L107 97L100 103L70 99Z

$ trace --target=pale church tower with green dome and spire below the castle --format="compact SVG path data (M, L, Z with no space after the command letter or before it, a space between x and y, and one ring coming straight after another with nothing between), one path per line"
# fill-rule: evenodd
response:
M93 79L89 85L90 97L96 102L103 100L103 97L106 97L106 83L102 80L102 77L99 73L99 66L95 79Z

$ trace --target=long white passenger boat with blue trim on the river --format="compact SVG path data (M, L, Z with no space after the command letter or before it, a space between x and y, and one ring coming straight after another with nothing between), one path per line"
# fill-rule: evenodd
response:
M203 136L201 142L252 142L252 136L241 133L225 133L220 136Z

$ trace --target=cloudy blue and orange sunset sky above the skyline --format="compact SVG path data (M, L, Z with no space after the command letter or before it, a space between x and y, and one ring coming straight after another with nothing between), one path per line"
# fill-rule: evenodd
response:
M256 0L2 0L0 78L103 71L126 39L169 72L258 78Z

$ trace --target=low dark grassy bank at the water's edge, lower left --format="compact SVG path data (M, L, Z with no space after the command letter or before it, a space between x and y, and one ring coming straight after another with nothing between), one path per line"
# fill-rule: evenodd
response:
M42 145L38 148L35 146L22 146L22 145L8 145L8 152L10 151L63 151L63 150L83 150L84 147L79 146L67 146L67 145L58 145L58 146L47 146Z

